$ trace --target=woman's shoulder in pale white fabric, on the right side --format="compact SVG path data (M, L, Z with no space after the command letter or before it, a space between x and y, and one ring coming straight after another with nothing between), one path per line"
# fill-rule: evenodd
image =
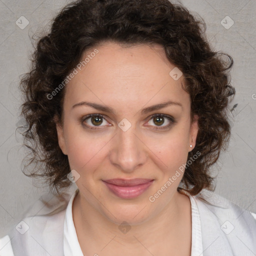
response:
M211 247L216 249L225 247L225 255L233 255L232 252L249 254L250 251L256 251L255 213L206 189L192 197L198 207L202 242L205 248L209 242L214 241L215 245Z

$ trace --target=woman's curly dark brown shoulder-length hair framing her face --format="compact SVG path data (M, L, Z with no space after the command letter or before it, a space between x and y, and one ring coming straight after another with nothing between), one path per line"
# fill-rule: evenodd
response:
M192 195L202 188L212 190L209 167L226 149L230 136L227 105L235 90L228 72L233 60L210 48L202 18L168 0L78 0L53 19L49 33L36 43L30 72L20 82L21 116L27 122L24 145L31 150L25 168L35 164L33 172L24 174L44 177L57 193L71 184L68 158L58 145L54 119L62 120L65 88L51 99L49 94L75 68L84 51L109 40L126 46L160 44L168 60L182 71L191 117L198 115L199 127L187 160L196 151L200 155L186 166L181 181Z

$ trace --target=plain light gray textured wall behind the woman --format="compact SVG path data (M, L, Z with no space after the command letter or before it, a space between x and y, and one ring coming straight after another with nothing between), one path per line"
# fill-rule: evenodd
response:
M20 221L22 212L47 192L20 169L24 150L16 132L21 97L19 76L28 71L31 39L45 30L67 0L0 0L0 237ZM177 2L177 1L176 1ZM206 35L215 50L234 59L231 71L236 96L229 106L232 135L228 150L213 168L215 192L256 212L256 86L255 0L182 0L206 22ZM29 24L15 22L24 16ZM231 25L230 18L234 24ZM20 22L20 21L19 21ZM22 21L24 24L24 19ZM234 104L237 106L231 111ZM35 186L36 185L36 186Z

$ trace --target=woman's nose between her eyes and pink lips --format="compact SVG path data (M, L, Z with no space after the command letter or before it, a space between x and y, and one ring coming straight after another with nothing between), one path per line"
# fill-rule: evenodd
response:
M123 131L117 129L112 141L110 162L123 172L132 172L146 161L146 146L132 126Z

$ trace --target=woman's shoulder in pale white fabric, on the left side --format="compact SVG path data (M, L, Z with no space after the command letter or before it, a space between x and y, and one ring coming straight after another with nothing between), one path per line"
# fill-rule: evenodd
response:
M73 191L36 200L9 232L14 255L63 255L65 211Z

